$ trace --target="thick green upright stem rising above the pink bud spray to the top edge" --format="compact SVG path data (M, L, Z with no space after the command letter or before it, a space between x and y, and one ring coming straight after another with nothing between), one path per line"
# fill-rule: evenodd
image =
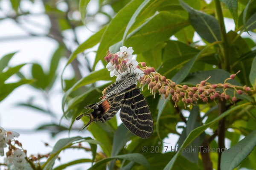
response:
M224 48L224 56L223 56L223 65L222 68L225 70L229 71L230 70L230 61L229 61L229 44L227 41L227 33L226 33L226 28L224 24L224 17L222 14L222 9L221 9L221 3L219 0L214 0L215 1L215 8L216 8L216 13L218 17L218 21L221 27L221 39L223 41L223 48Z

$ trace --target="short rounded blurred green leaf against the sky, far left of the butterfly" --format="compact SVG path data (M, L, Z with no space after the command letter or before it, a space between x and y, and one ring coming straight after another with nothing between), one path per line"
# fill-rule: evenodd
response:
M47 77L41 65L33 64L31 72L32 77L36 79L34 83L35 87L45 89L47 87Z

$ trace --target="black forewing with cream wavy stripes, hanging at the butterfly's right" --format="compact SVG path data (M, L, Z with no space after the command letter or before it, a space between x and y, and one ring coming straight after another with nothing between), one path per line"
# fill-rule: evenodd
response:
M151 136L154 130L152 116L143 94L136 85L131 85L125 91L120 118L135 135L143 139Z

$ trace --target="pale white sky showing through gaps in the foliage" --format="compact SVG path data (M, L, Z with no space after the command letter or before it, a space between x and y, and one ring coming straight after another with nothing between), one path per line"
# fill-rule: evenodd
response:
M40 3L41 1L35 0L35 3L32 4L29 0L22 1L21 4L24 8L29 9L30 11L34 13L42 13L43 5ZM0 17L4 17L5 14L8 14L8 11L10 10L10 4L8 0L1 0L0 6L3 9L0 10ZM59 9L65 10L66 6L64 3L60 3L58 5ZM89 3L88 12L93 13L97 9L97 3L94 0L91 0ZM112 12L110 7L105 7L105 11ZM79 13L75 13L73 17L80 17ZM25 20L23 21L23 26L26 28L29 28L30 30L36 32L36 33L46 33L46 28L49 28L50 23L48 18L45 15L37 15L37 16L31 16L29 17L29 20L38 23L38 27L31 26L28 22ZM102 15L96 16L96 23L90 23L88 24L88 28L90 30L97 31L98 30L98 24L99 22L105 21L105 17ZM234 23L233 20L225 19L227 31L234 29ZM84 26L81 26L76 29L79 37L79 42L83 42L88 37L90 37L93 32L89 31ZM32 63L32 62L38 62L42 65L44 70L49 68L49 61L51 59L51 56L55 49L57 48L57 42L55 42L52 39L45 38L45 37L30 37L26 39L20 39L20 40L7 40L6 37L15 37L15 36L22 36L26 35L26 32L23 31L20 27L18 27L14 21L10 20L0 20L0 57L2 57L5 54L19 51L10 61L9 65L14 66L21 63ZM72 48L73 50L76 48L74 46L72 40L72 37L70 36L70 31L64 31L64 36L67 37L70 40L66 40L65 42ZM242 36L248 36L247 33L243 33ZM253 37L256 37L256 34L253 34ZM172 37L172 39L175 39L175 37ZM194 41L200 40L199 36L195 34ZM254 39L255 40L255 39ZM202 41L200 43L203 43ZM97 49L95 47L94 49ZM90 53L89 59L90 63L93 64L94 60L94 54ZM82 61L84 57L79 57L79 60ZM61 59L58 72L61 73L65 63L67 62L67 59ZM102 64L97 65L97 69L102 68ZM83 76L87 75L86 69L83 69L81 67L81 70L83 71ZM31 71L31 65L27 64L21 69L21 72L26 75L26 77L30 76ZM65 71L64 76L65 77L71 77L73 75L72 70L70 67L68 67ZM8 81L13 82L17 80L17 77L13 76ZM4 89L2 89L4 90ZM67 132L58 134L54 139L51 138L50 134L47 133L47 131L33 131L36 127L39 125L43 125L49 122L59 122L59 118L62 116L61 111L61 99L63 96L63 92L61 91L61 84L60 84L60 78L58 77L57 81L55 82L54 87L52 88L52 94L50 98L51 108L52 110L57 113L58 119L52 120L50 116L47 116L46 114L42 114L39 111L35 111L32 109L28 109L25 107L16 107L15 104L18 102L26 102L31 96L36 96L35 104L46 107L46 103L44 99L42 99L41 91L36 90L35 88L31 88L29 85L23 85L20 88L17 88L15 91L12 92L11 95L9 95L6 99L4 99L2 102L0 102L0 126L4 127L6 130L14 130L18 133L20 133L20 137L18 140L22 142L23 147L28 151L28 155L35 154L35 153L49 153L52 148L51 147L45 147L44 142L49 143L52 147L54 144L62 138L72 137L72 136L90 136L90 133L87 133L86 130L83 130L81 132L72 131L70 133L70 136L68 136ZM189 113L184 112L185 116L188 116ZM119 124L121 123L121 120L119 119L119 116L117 116ZM183 125L182 123L179 123L178 125ZM81 122L76 122L75 126L81 126ZM181 129L178 130L179 133L181 133ZM166 138L164 140L168 144L168 146L175 146L177 142L177 135L169 135L169 138ZM226 141L227 144L229 144L229 141ZM84 144L84 146L89 146L88 144ZM98 147L99 149L99 147ZM85 153L83 150L65 150L64 152L61 152L61 161L56 161L55 166L59 165L61 163L66 163L69 161L73 161L76 159L82 159L82 158L91 158L90 153ZM3 162L3 158L0 157L0 162ZM90 167L90 163L85 164L79 164L72 167L67 168L68 170L77 170L77 169L87 169L87 167ZM2 168L3 169L3 168ZM0 170L2 170L0 169Z

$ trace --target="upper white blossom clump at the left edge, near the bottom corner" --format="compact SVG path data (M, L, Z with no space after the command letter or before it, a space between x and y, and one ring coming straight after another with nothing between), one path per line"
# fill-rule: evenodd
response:
M12 140L14 137L20 136L19 133L13 131L6 131L0 126L0 156L4 156L4 147L7 147L7 142Z

